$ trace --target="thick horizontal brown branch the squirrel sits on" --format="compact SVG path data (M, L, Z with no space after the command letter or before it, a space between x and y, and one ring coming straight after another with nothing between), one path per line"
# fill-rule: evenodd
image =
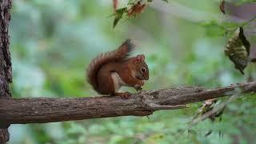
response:
M217 89L182 86L166 90L142 90L131 98L6 98L0 101L0 119L9 124L62 122L117 116L146 116L156 110L184 108L192 102L256 91L256 81Z

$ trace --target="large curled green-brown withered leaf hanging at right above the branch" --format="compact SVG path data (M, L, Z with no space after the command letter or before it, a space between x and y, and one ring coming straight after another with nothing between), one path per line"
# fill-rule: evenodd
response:
M243 70L248 64L250 54L250 42L246 40L242 27L234 32L234 36L227 42L224 52L234 62L234 67L244 74Z

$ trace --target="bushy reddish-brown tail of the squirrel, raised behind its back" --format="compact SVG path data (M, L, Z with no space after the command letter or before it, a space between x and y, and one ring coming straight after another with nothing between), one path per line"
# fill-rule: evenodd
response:
M109 51L99 54L94 58L87 68L87 81L93 86L94 90L98 91L97 74L98 70L108 62L118 61L129 57L130 52L134 50L134 44L130 39L123 42L118 50Z

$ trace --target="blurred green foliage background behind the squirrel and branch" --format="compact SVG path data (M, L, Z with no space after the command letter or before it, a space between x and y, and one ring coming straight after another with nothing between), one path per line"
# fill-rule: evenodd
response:
M125 4L126 1L120 1L119 7ZM173 86L214 88L246 82L255 68L250 64L246 74L241 75L224 55L229 35L220 27L234 23L224 18L218 4L217 0L155 0L138 17L123 18L113 29L111 0L14 0L10 22L13 96L97 95L85 81L86 66L97 54L116 49L126 38L138 43L136 53L146 54L150 80L145 90ZM251 75L255 77L255 73ZM123 90L134 92L129 88ZM148 118L128 116L11 125L9 143L256 142L255 97L245 95L230 102L221 122L206 120L181 133L201 105L161 110ZM212 134L206 137L209 130Z

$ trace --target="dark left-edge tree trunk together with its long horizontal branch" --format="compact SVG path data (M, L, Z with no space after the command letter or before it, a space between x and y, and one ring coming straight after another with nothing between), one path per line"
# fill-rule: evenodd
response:
M12 0L0 0L0 144L9 141L8 126L15 123L45 123L106 118L116 116L145 116L156 110L184 108L185 104L242 92L255 92L256 82L248 82L218 89L178 87L150 90L120 97L94 98L11 98L10 8Z

